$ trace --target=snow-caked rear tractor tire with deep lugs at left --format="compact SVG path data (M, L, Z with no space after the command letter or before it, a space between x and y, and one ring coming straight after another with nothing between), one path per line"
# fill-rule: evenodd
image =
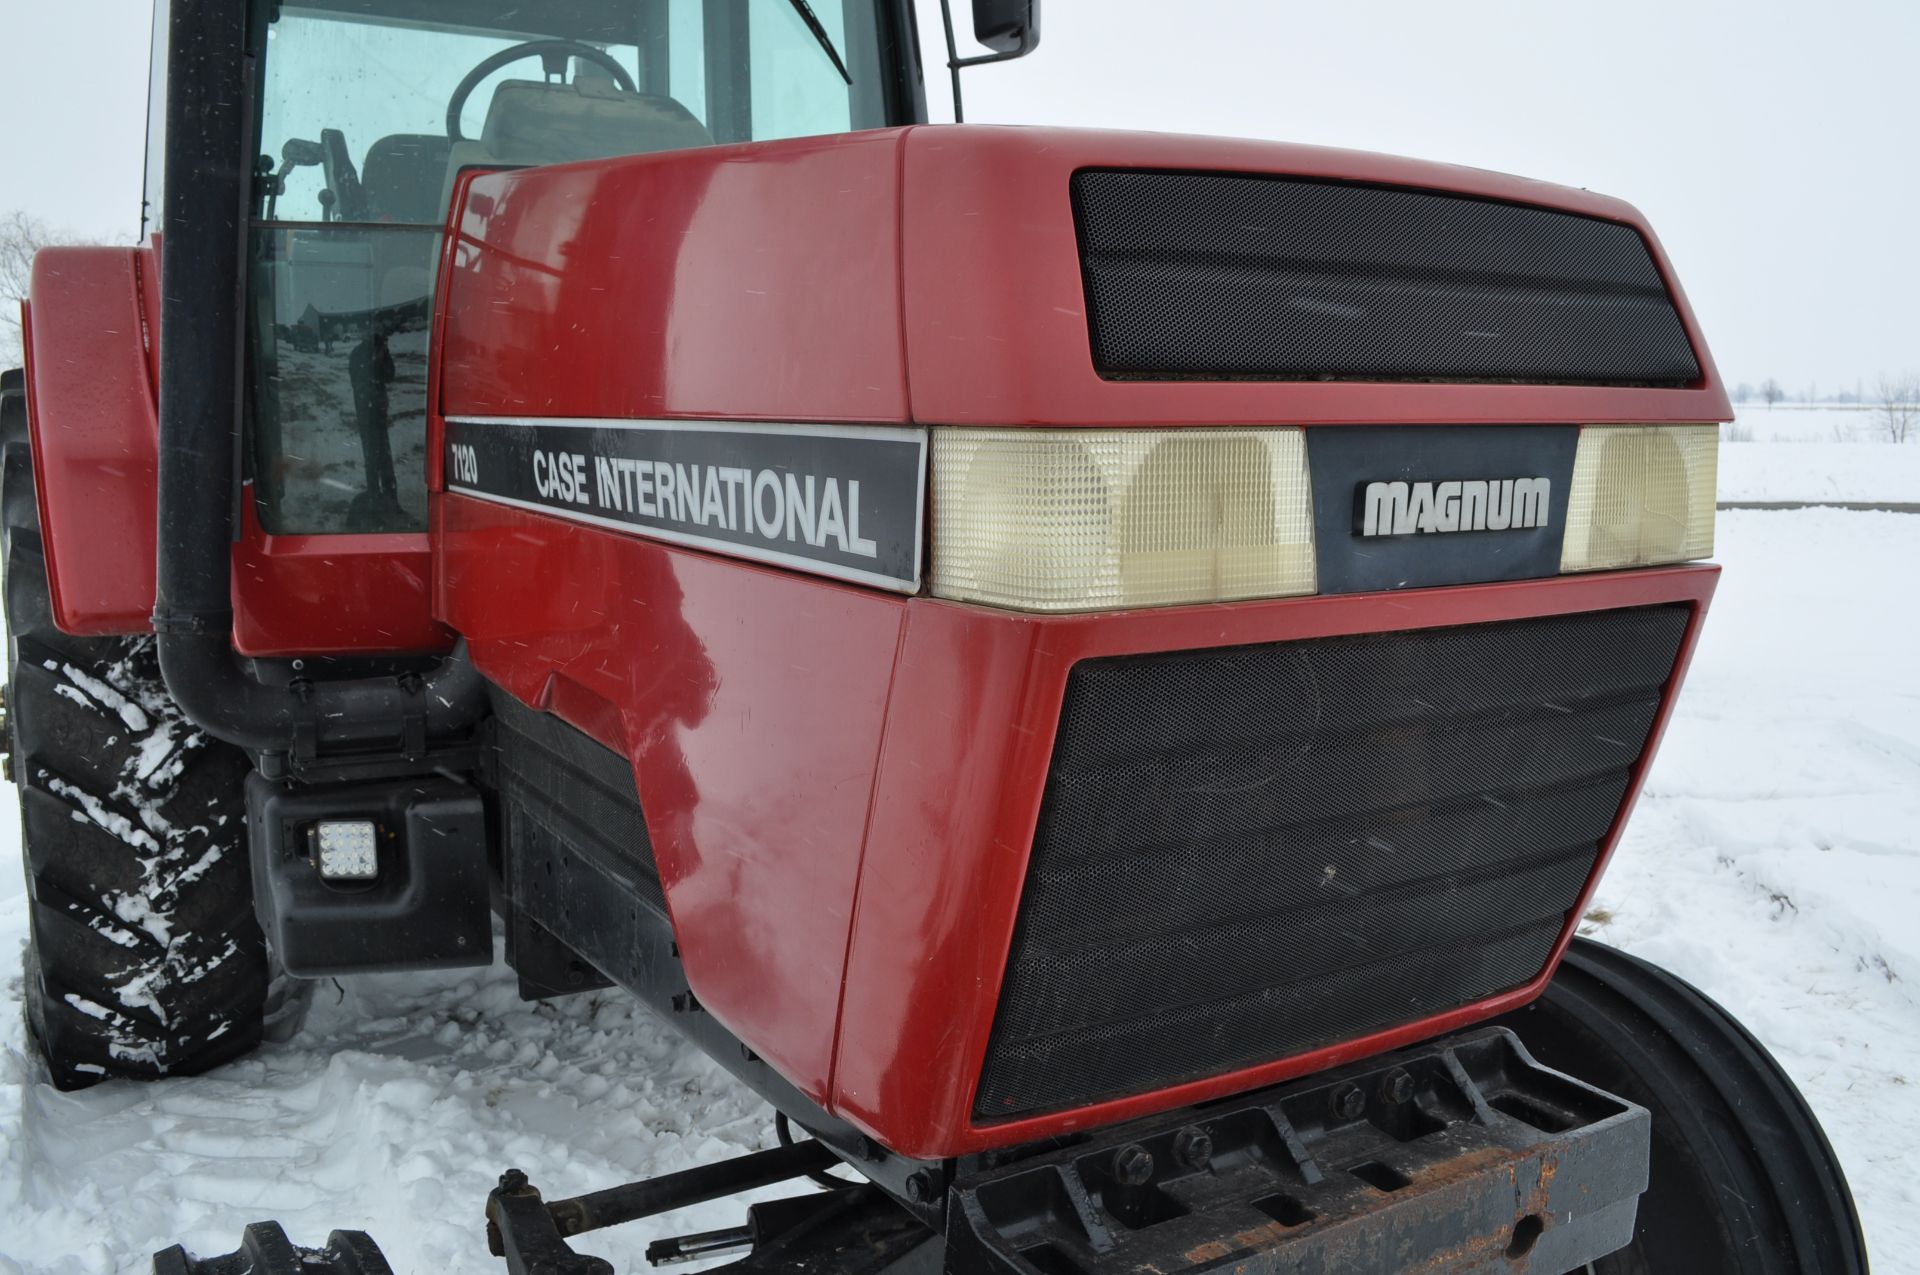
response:
M60 1089L205 1071L261 1039L250 762L180 716L152 638L54 624L19 373L0 378L0 463L29 1033Z

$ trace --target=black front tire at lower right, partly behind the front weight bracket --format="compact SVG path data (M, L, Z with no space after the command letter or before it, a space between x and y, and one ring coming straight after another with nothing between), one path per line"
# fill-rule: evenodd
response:
M1549 1068L1653 1112L1634 1242L1594 1275L1864 1275L1847 1175L1772 1054L1693 985L1574 939L1498 1020Z

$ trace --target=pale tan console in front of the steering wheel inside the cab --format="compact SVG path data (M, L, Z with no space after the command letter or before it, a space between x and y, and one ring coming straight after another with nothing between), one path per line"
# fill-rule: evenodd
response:
M572 84L503 81L488 104L478 140L455 142L440 207L467 167L526 167L657 150L712 146L712 134L680 102L649 92L622 92L605 79Z

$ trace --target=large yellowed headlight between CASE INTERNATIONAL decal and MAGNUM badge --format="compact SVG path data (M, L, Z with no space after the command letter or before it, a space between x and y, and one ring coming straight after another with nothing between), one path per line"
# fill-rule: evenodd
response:
M1313 591L1300 430L933 430L937 597L1016 611Z

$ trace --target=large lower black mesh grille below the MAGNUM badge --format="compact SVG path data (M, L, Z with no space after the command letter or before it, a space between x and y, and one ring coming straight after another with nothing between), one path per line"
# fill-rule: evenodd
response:
M1686 622L1077 664L975 1114L1164 1089L1530 979Z

